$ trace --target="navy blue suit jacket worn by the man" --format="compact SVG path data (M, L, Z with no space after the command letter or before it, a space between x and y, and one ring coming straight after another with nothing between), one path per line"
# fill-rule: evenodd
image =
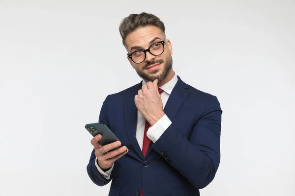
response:
M164 108L172 124L151 142L146 156L136 140L134 97L142 82L103 102L99 122L115 133L129 152L115 161L107 180L96 169L94 150L87 172L98 186L108 184L109 196L199 196L214 178L220 162L221 114L215 96L184 83L179 76ZM99 195L99 194L98 194Z

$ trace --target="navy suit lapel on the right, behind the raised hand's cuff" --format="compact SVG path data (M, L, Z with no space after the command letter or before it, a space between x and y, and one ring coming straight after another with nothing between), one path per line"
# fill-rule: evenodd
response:
M175 115L177 114L177 111L180 109L182 104L184 103L185 99L190 94L189 86L185 84L179 76L178 81L173 88L171 95L169 96L167 103L164 107L164 113L167 115L167 117L170 119L171 122L173 122L173 119ZM150 142L150 145L148 147L148 151L146 154L146 157L152 150L152 142Z

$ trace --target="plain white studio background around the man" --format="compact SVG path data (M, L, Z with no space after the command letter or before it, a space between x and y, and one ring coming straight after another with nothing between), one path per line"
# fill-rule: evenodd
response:
M0 0L0 196L108 195L84 125L141 81L118 26L142 11L165 23L177 75L224 111L201 196L294 196L294 0Z

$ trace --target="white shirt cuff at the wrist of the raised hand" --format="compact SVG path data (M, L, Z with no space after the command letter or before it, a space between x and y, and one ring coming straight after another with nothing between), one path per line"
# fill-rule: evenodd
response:
M171 125L170 119L165 114L157 123L148 128L147 136L148 138L155 143L165 130Z

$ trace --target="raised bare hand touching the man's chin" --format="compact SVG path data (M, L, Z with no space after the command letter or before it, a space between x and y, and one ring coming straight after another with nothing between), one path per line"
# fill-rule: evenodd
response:
M135 96L135 105L138 111L146 118L152 126L164 115L163 102L158 92L158 79L148 82L142 86Z

